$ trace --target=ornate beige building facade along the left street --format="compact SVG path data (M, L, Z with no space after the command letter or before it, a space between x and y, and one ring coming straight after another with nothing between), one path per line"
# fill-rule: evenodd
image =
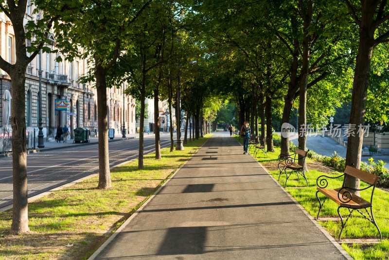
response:
M33 14L34 6L28 6L24 22L36 20L37 15ZM47 45L54 50L55 36L49 36L52 44ZM29 46L31 40L26 40ZM10 62L15 63L15 37L12 24L9 19L0 13L0 55ZM93 88L93 82L81 84L78 79L86 74L88 66L86 59L76 58L73 61L63 59L57 62L58 53L43 53L38 55L28 65L26 70L26 126L27 131L35 130L37 136L39 122L39 72L42 74L42 121L45 141L54 141L56 128L67 125L70 128L71 138L73 130L78 127L85 127L91 131L93 136L97 129L97 93ZM41 67L39 68L39 63ZM126 133L135 132L135 99L124 95L126 85L112 86L107 89L108 128L114 128L116 134L121 134L123 124ZM11 78L4 71L0 70L0 138L1 132L11 132L11 125L3 122L3 96L9 91L12 96ZM57 103L65 100L68 105L67 111L58 111ZM11 99L12 102L12 99ZM4 135L3 135L4 136Z

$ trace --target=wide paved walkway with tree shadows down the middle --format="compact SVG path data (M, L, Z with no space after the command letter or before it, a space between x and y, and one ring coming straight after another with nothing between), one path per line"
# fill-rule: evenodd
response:
M89 259L351 257L225 132Z

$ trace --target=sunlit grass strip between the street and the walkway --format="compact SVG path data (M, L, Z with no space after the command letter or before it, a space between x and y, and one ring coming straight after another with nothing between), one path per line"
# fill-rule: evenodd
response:
M210 137L145 155L143 170L138 160L116 167L110 189L96 189L96 176L29 203L28 234L10 235L12 209L0 212L0 259L87 259Z

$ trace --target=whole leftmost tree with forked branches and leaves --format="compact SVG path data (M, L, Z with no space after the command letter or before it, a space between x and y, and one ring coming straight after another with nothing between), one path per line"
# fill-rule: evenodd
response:
M25 118L25 72L27 65L36 57L39 50L49 52L44 47L49 43L48 35L54 22L60 15L46 15L42 19L27 22L25 29L24 17L27 8L27 0L6 0L0 2L0 10L10 19L15 34L15 63L10 63L0 57L0 68L11 77L13 93L12 101L12 163L13 163L13 214L11 233L19 234L29 231L28 227L28 203L27 203L27 152L26 152L26 118ZM49 3L53 5L53 3ZM58 8L69 8L66 5L58 5ZM28 47L27 56L26 39L33 39Z

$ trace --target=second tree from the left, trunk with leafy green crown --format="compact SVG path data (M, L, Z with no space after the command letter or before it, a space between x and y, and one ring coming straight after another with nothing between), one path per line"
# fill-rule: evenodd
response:
M107 75L116 64L123 44L127 43L132 25L152 0L58 0L57 3L75 6L76 10L60 10L49 5L51 0L37 0L39 7L49 14L63 14L56 24L55 34L62 52L68 59L74 56L89 58L94 66L81 82L95 81L99 128L99 184L98 188L112 186L108 157L108 127L106 109ZM68 44L70 43L70 44ZM69 54L82 48L83 53Z

